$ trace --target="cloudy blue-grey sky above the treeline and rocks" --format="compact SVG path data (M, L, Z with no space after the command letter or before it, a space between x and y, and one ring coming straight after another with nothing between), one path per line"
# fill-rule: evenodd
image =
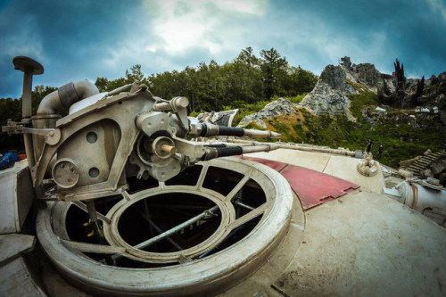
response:
M391 73L446 71L445 0L0 0L0 97L20 97L26 55L45 73L34 86L222 64L274 47L316 74L348 55Z

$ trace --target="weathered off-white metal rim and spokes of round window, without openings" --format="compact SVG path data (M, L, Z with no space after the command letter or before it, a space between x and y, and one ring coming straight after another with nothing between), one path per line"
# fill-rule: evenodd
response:
M137 194L126 194L127 199L115 204L109 211L107 217L111 218L111 227L105 225L105 234L108 240L111 237L116 238L119 234L112 233L111 228L116 227L118 215L121 212L122 205L129 205L137 200L145 199L151 193L160 194L162 191L177 191L178 193L200 193L203 196L210 197L213 202L219 205L219 209L225 210L223 205L227 205L227 219L222 217L223 228L216 231L208 241L200 243L196 248L189 248L178 252L178 265L162 268L122 268L99 264L92 260L87 260L85 256L79 256L77 253L70 252L59 237L54 234L54 228L51 226L51 217L58 216L59 210L48 207L40 210L37 217L37 236L42 243L45 252L49 255L54 265L62 273L69 277L75 284L81 285L85 290L100 294L112 293L115 295L123 294L155 294L161 295L211 295L219 293L236 285L245 276L252 274L257 268L264 264L277 245L282 241L283 236L288 229L290 222L290 211L293 204L293 193L291 188L275 170L269 169L261 164L252 161L243 161L239 159L216 159L211 161L212 167L232 169L235 172L242 172L248 177L244 177L236 184L236 188L241 188L249 180L255 181L261 186L266 196L267 203L261 205L254 211L254 215L263 213L260 222L253 229L252 233L246 235L244 239L231 245L226 250L216 254L193 260L191 253L199 252L199 249L207 246L211 249L216 240L224 239L226 234L233 227L243 224L245 218L252 216L243 216L240 220L235 219L235 210L228 197L234 197L234 191L230 191L227 196L219 194L211 189L204 187L203 179L199 178L195 186L166 186L160 183L157 188L145 190ZM202 163L201 177L206 175L208 163ZM56 202L63 204L66 202ZM121 204L121 205L120 205ZM61 215L66 210L61 209ZM249 214L249 212L248 212ZM250 218L248 218L250 219ZM53 218L53 221L61 224L60 218ZM230 223L235 222L234 226ZM62 232L63 233L63 232ZM108 235L107 235L108 234ZM62 235L64 236L64 235ZM128 244L127 244L128 245ZM131 246L122 244L126 250L132 249ZM74 246L71 246L73 248ZM79 248L92 248L92 246L78 246ZM133 248L134 249L134 248ZM144 251L140 251L144 253ZM148 254L149 252L145 252ZM164 257L171 256L172 253L165 253ZM236 256L235 256L236 255ZM158 257L162 254L159 253ZM187 260L189 259L189 260Z

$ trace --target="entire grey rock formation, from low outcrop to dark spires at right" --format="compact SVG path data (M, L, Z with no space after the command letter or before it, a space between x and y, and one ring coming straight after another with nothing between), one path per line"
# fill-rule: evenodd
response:
M304 107L314 115L343 114L355 121L348 95L364 91L375 93L381 103L390 107L415 108L422 105L430 111L440 111L446 125L446 72L438 77L414 79L404 77L404 66L400 61L396 60L394 67L392 75L385 74L376 70L373 64L354 64L349 57L343 57L338 66L326 66L316 86L301 103L294 106L280 98L277 102L269 103L264 110L245 117L238 126L244 127L254 121L261 128L266 128L263 120L280 114L292 114L295 107Z

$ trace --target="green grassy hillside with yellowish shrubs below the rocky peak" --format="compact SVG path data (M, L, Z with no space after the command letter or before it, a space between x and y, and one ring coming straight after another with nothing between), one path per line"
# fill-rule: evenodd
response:
M351 95L351 112L357 122L345 116L314 116L298 108L293 115L266 120L268 129L282 133L282 141L344 147L365 150L368 139L373 140L372 153L377 156L383 144L382 163L399 167L399 162L424 153L427 149L445 149L446 131L438 114L414 114L410 111L375 111L378 99L374 93ZM368 109L368 112L366 112ZM363 116L363 113L366 117ZM414 119L416 118L416 119ZM259 128L251 124L249 128Z

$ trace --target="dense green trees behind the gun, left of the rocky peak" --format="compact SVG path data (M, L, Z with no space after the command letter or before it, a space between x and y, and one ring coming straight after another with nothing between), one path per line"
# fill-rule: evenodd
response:
M249 105L269 102L274 95L301 95L310 92L317 79L308 70L289 66L274 48L261 51L258 58L251 47L223 65L201 62L195 68L166 71L148 78L154 95L166 99L185 95L190 111L220 111L224 106L239 108L236 102Z

